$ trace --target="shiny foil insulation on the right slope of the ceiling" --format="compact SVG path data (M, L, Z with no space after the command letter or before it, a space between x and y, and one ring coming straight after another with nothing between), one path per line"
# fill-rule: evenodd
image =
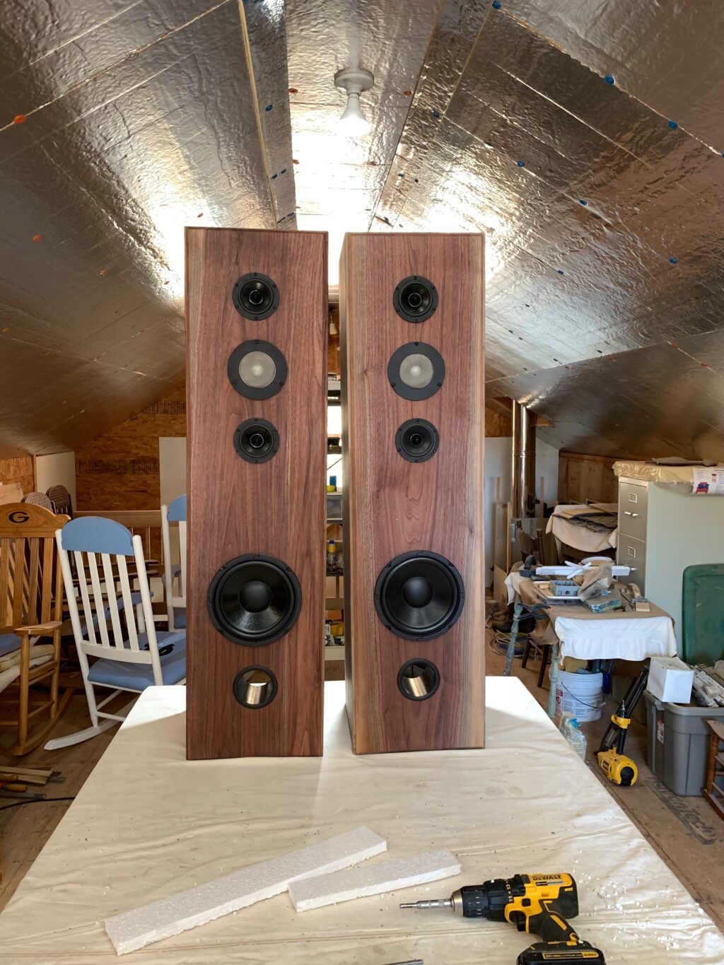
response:
M689 84L686 97L656 101L662 116L647 106L654 75L648 86L641 75L654 23L666 24L677 71L696 72L698 40L719 49L724 16L679 5L667 19L648 6L504 2L473 15L446 3L376 230L486 232L488 394L558 420L542 437L581 452L711 455L724 441L709 407L724 401L724 162L705 142L724 139L724 99ZM613 12L629 71L601 59ZM638 94L622 89L625 77ZM696 347L706 364L669 343ZM649 373L638 389L626 353L631 372ZM595 399L593 372L605 375ZM651 427L639 427L634 399Z

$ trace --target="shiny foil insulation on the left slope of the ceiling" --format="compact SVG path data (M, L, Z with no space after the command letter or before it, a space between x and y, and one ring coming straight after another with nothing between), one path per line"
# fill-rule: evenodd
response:
M33 0L0 38L0 455L42 454L182 381L183 227L277 217L236 0Z

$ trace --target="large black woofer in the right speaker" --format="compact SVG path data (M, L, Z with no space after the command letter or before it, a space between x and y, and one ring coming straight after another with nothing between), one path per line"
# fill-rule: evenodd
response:
M388 630L408 640L432 640L446 633L464 602L462 577L437 553L403 553L377 577L377 615Z

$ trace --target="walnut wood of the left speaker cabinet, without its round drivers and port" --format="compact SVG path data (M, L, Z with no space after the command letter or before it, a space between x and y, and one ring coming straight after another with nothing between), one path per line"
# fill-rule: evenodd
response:
M279 308L263 321L241 317L232 303L249 271L279 288ZM326 234L186 230L188 758L321 754L326 280ZM229 355L248 339L271 342L287 360L287 382L271 399L245 399L227 377ZM280 435L279 452L258 465L233 444L252 417ZM207 610L214 573L244 553L283 560L301 585L299 619L263 647L227 640ZM232 684L257 664L279 690L252 710L237 703Z

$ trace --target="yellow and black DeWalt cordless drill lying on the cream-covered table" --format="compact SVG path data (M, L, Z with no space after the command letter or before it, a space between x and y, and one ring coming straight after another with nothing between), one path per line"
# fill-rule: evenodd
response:
M603 955L582 941L567 919L578 914L578 893L570 874L514 874L493 878L483 885L459 888L449 898L413 901L401 908L450 908L463 918L487 918L510 922L518 931L540 935L543 942L521 951L517 965L549 965L551 962L598 962Z

